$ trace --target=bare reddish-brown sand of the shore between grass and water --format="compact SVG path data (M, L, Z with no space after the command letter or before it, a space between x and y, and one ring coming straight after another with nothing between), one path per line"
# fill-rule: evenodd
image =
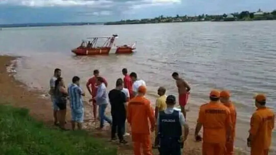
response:
M52 119L52 107L50 99L39 90L28 90L28 86L15 80L14 60L16 57L0 56L0 97L16 107L24 107L30 110L30 114L43 121L46 125L51 126L53 124ZM13 65L13 66L12 66ZM8 68L8 69L7 69ZM89 103L85 102L85 125L84 128L92 133L93 137L105 138L106 141L110 139L110 127L104 129L104 131L97 131L95 128L98 123L94 123L92 118L92 109ZM68 109L69 111L69 109ZM68 112L67 120L70 120L70 112ZM193 121L195 122L195 120ZM190 123L190 122L189 122ZM193 123L190 124L190 134L185 142L183 154L185 155L200 155L201 154L201 142L195 142L193 139L194 127ZM70 123L67 123L67 127L70 127ZM129 127L127 127L129 129ZM129 137L127 140L130 142ZM112 144L107 142L108 144ZM122 146L118 145L119 154L133 154L131 143ZM154 155L157 155L157 150L154 150Z

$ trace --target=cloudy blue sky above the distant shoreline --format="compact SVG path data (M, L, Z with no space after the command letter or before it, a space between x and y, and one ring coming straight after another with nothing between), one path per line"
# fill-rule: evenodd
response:
M273 11L276 0L0 0L0 24L107 22L259 8Z

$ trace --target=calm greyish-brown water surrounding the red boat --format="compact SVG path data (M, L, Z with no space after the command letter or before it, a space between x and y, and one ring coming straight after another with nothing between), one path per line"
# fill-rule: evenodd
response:
M191 84L189 105L195 112L188 113L189 119L196 117L211 88L229 89L238 110L236 145L244 147L244 132L255 109L253 95L267 94L268 105L276 107L275 27L276 21L5 28L0 31L0 52L24 56L17 78L44 91L56 67L68 83L72 76L80 76L83 88L92 71L99 69L109 89L127 67L146 81L153 103L159 86L177 94L171 78L177 71ZM70 52L81 39L113 33L119 35L116 45L137 41L137 52L94 57Z

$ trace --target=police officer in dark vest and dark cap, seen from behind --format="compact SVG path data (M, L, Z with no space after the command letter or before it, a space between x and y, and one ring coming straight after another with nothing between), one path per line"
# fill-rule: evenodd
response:
M157 117L160 155L181 155L181 148L189 134L189 126L180 110L174 108L176 98L166 98L167 108L160 111ZM182 134L182 126L185 133Z

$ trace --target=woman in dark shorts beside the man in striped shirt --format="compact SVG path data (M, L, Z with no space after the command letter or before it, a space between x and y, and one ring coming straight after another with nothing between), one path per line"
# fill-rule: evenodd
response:
M65 128L65 117L66 117L66 103L68 92L64 86L64 81L61 77L55 80L55 90L54 90L55 102L59 107L59 127L62 130L67 130Z

